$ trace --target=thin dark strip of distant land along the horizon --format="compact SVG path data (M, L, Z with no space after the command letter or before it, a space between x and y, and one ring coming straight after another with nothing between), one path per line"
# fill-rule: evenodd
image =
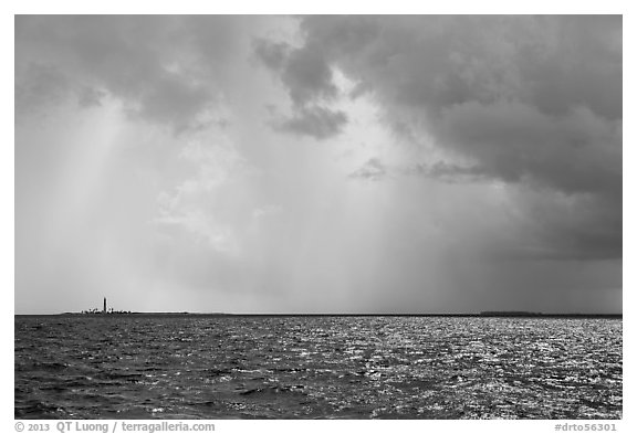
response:
M608 318L622 319L623 314L544 314L532 311L482 311L477 314L222 314L188 311L118 311L15 314L15 317L82 317L82 318L276 318L276 317L441 317L441 318Z

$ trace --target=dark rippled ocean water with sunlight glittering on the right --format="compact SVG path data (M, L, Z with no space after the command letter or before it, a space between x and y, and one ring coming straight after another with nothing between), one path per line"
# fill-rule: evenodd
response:
M17 419L620 419L622 320L17 317Z

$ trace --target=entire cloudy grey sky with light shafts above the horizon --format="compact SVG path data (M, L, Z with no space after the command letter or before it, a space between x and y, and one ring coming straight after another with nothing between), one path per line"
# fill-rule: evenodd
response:
M622 33L19 15L15 313L620 313Z

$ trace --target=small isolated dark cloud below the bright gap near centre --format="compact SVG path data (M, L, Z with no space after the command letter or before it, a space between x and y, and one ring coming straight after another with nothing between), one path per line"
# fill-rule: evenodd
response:
M281 131L326 139L340 134L345 124L345 113L313 106L301 107L294 116L274 121L273 126Z

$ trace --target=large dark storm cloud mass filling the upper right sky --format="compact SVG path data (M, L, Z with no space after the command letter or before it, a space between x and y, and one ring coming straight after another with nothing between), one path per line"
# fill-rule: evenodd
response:
M426 128L507 181L617 187L620 17L310 17L302 28L299 50L321 46L398 134ZM556 163L577 180L558 179Z

